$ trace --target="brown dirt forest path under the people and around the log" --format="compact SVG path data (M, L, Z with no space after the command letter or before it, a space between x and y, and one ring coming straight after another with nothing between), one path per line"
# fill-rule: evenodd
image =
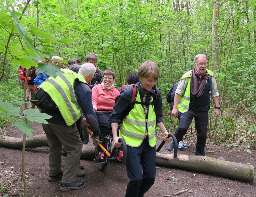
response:
M42 134L41 124L29 123L36 134ZM15 127L8 126L4 129L4 135L11 137L22 137L23 134ZM160 144L162 139L157 140ZM167 151L166 145L161 151ZM178 153L194 155L189 152L195 150L195 142L189 143L190 148L179 149ZM93 146L90 140L88 146ZM206 143L206 151L214 151L207 156L223 157L227 161L251 164L256 167L256 152L246 153L242 146L236 148L225 148L214 143ZM27 193L29 197L122 197L125 194L126 185L129 181L125 165L118 162L109 162L105 180L103 172L97 169L96 163L91 160L81 160L86 170L84 180L86 186L83 189L61 192L58 190L61 179L48 182L48 147L28 148L25 153L25 174L28 183ZM65 164L65 155L62 156L62 168ZM255 177L255 172L254 172ZM253 183L239 181L220 176L187 171L177 168L156 166L156 181L144 197L168 197L173 196L180 190L188 189L188 192L179 194L179 197L208 197L208 196L256 196L256 181ZM0 147L0 196L9 194L11 196L23 195L23 182L21 178L21 150Z

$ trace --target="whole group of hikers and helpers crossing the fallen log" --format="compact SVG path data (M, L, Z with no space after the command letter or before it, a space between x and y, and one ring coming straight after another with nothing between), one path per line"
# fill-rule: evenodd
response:
M89 142L85 127L92 131L93 139L104 139L111 131L118 158L122 158L121 142L127 145L126 172L130 179L126 197L142 197L154 184L156 178L156 131L158 126L168 142L168 131L163 124L162 96L156 86L159 69L154 61L140 64L137 73L130 73L127 84L119 90L115 87L116 73L102 72L97 68L98 57L90 53L82 64L81 58L68 60L67 67L59 56L37 64L53 64L61 68L56 78L36 69L20 68L24 80L26 99L33 98L31 108L51 115L48 124L42 124L49 145L48 181L61 179L60 190L80 189L85 182L76 176L84 176L80 164L83 143ZM180 125L174 133L179 148L189 146L182 142L184 134L195 118L197 142L196 155L204 155L210 97L215 104L214 115L219 115L219 93L213 73L206 69L207 58L198 54L195 67L184 72L180 81L167 95L172 116L178 117ZM25 79L27 83L25 84ZM64 170L61 170L61 147L67 153ZM167 149L174 147L173 140ZM105 147L106 148L106 147ZM98 148L97 162L105 162L104 152Z

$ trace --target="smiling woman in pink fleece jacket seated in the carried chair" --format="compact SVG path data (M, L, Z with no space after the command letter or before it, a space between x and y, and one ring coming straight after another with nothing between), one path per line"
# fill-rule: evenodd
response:
M110 116L115 105L115 99L120 95L114 87L116 73L112 70L106 70L103 73L103 82L92 88L92 107L98 118L100 127L100 139L105 138L111 130ZM106 147L105 147L106 148ZM104 154L98 149L98 162L104 162Z

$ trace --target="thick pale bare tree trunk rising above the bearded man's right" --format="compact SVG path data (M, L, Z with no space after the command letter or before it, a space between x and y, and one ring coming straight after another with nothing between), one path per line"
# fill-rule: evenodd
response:
M213 2L212 14L212 62L214 70L218 70L219 65L219 49L218 49L218 18L219 18L220 0Z

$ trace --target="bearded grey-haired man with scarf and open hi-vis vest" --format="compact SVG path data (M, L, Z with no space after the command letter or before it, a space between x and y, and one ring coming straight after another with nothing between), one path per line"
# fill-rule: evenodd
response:
M208 111L211 103L210 96L215 104L214 116L219 116L220 94L212 71L206 69L206 56L203 54L196 55L194 64L193 70L186 72L181 77L175 91L172 116L180 116L180 125L174 135L177 141L180 141L194 117L197 131L196 155L204 155ZM173 148L174 145L171 141L167 149L171 151Z

